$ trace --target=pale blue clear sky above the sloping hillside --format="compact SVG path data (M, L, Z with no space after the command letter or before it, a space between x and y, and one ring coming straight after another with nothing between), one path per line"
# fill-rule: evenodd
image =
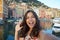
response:
M60 9L60 0L38 0L51 8Z

